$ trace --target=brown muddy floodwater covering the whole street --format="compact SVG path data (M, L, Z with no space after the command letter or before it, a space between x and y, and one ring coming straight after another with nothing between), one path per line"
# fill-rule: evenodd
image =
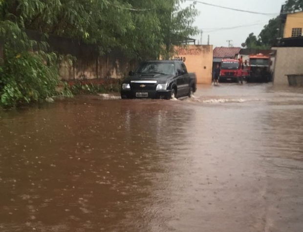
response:
M303 231L303 89L0 113L0 232Z

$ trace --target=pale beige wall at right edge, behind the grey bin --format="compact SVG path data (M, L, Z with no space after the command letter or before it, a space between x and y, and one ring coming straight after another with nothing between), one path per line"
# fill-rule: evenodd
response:
M277 50L274 85L288 85L286 74L303 73L303 47L273 47Z

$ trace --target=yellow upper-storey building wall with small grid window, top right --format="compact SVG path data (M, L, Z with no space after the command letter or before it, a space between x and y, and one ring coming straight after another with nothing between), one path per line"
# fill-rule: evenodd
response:
M286 15L283 38L303 36L303 12Z

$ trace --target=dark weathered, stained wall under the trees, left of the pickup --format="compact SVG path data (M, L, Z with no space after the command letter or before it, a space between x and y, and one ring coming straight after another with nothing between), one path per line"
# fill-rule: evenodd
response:
M38 31L26 30L26 34L32 40L45 41ZM73 64L70 64L67 59L61 62L60 77L65 80L122 78L136 66L135 61L130 61L119 50L100 55L96 45L87 45L80 40L54 35L50 35L46 42L49 44L49 51L76 58Z

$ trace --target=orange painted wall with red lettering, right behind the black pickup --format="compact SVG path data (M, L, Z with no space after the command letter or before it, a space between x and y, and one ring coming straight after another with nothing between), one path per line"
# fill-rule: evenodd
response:
M174 58L182 58L188 72L195 72L198 84L212 83L213 46L187 45L175 47Z

